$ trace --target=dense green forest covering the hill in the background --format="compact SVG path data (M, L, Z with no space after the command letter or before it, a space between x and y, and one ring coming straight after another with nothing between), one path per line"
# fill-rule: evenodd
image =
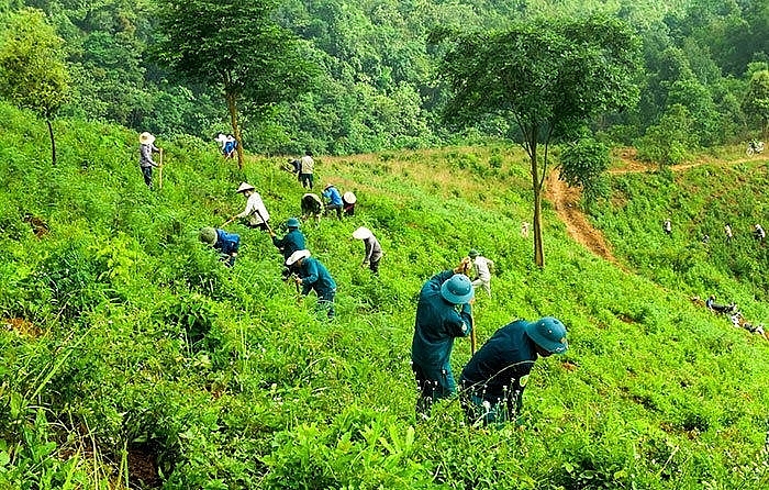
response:
M67 113L164 136L212 138L232 125L219 87L189 82L155 60L164 56L149 56L169 34L157 14L164 3L5 0L0 15L23 5L42 9L66 41L75 96ZM221 19L216 9L201 15L201 24ZM244 147L343 155L461 141L475 131L455 134L438 118L446 87L435 66L444 48L430 44L431 33L594 13L625 21L644 45L644 74L636 80L642 102L593 122L605 141L632 144L647 129L647 136L659 135L654 127L676 104L693 118L696 146L745 140L759 131L744 101L751 66L769 60L768 9L762 0L283 1L275 22L301 40L303 59L320 70L289 66L290 82L309 92L292 103L275 97L267 114L245 114ZM221 31L247 40L246 25L238 27L232 21ZM161 54L172 57L169 49Z

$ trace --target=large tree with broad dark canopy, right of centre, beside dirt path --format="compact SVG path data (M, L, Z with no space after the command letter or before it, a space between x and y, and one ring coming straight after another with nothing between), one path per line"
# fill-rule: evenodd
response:
M631 107L639 43L616 19L539 19L454 37L441 73L450 87L445 118L468 124L512 119L531 162L534 261L545 266L542 190L548 148L602 112ZM539 145L544 147L539 158Z

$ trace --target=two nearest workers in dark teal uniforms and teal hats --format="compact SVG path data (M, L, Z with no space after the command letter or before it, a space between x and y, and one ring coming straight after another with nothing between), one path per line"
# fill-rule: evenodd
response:
M428 417L436 400L453 397L456 381L450 357L454 339L472 336L476 288L467 276L472 259L430 278L416 304L411 366L420 394L416 413ZM516 421L523 390L538 357L567 350L566 326L545 316L515 320L499 328L467 363L459 377L460 403L470 424L498 425Z

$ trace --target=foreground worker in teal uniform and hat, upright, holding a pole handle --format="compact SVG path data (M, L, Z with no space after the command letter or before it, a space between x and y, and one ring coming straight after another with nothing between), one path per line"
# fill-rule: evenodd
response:
M465 257L453 270L444 270L427 280L416 303L414 337L411 343L411 369L420 394L416 414L428 417L433 402L456 391L452 374L454 338L472 332L475 290L465 275L470 258Z

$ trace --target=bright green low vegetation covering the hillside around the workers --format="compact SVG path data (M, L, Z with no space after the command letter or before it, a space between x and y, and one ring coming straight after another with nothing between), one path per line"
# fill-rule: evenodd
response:
M611 234L615 250L644 278L575 246L546 203L549 265L533 267L531 241L517 233L528 168L509 146L317 158L320 183L359 199L355 218L303 226L339 283L337 320L326 323L314 296L298 302L280 281L265 233L229 227L243 238L233 269L198 241L200 226L242 209L242 179L258 187L276 226L296 215L303 190L281 158L249 158L241 174L213 143L160 140L165 186L153 192L132 131L59 119L64 149L52 167L40 151L43 122L7 104L0 121L3 488L769 482L769 343L688 298L717 288L766 318L753 298L766 285L751 285L765 248L738 235L727 254L715 231L726 216L735 231L756 218L755 164L703 167L686 180L618 178L626 205L600 222L610 234L609 223L625 222ZM650 226L664 208L676 220L667 242ZM710 255L684 238L684 214L690 237L711 232ZM384 247L379 279L358 267L359 225ZM428 422L413 414L416 292L470 247L497 265L493 298L476 303L479 342L517 316L554 314L569 327L569 353L533 371L522 430L468 427L455 401ZM468 344L457 342L457 369ZM140 471L142 461L157 471Z

